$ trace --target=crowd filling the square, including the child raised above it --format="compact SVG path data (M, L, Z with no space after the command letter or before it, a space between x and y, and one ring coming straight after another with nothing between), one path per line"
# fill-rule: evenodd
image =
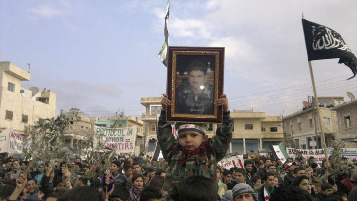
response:
M246 158L244 168L217 166L232 141L225 94L214 101L223 109L223 123L212 138L206 135L205 124L177 123L175 139L171 124L165 120L170 104L163 94L157 139L164 159L120 155L106 165L105 161L94 163L79 157L51 165L7 157L1 170L1 200L357 201L356 164L337 176L330 174L327 161L320 167L313 157L307 163L298 158L285 163L273 158ZM150 164L143 167L148 161ZM161 168L164 162L167 168Z

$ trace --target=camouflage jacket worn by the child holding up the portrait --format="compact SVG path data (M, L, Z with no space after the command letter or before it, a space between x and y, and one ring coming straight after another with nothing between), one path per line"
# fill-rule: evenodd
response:
M182 167L182 151L173 151L177 141L171 132L171 125L166 123L166 112L162 111L158 121L157 139L162 155L169 164L163 184L163 201L170 200L169 195L176 197L179 184L187 177L201 175L216 181L217 163L225 156L229 143L232 142L232 120L229 112L223 112L223 124L218 126L216 135L208 139L206 153L193 156Z

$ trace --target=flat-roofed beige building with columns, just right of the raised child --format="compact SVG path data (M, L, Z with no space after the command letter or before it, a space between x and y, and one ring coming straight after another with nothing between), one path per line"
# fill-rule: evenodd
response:
M271 145L283 141L281 116L267 116L265 112L251 110L233 111L232 152L240 154L247 150L257 152L258 149L267 149L271 152Z

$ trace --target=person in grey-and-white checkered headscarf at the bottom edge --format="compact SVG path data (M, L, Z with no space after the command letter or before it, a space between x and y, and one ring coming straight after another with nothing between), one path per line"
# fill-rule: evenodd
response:
M258 201L258 193L249 184L239 183L232 189L233 201Z

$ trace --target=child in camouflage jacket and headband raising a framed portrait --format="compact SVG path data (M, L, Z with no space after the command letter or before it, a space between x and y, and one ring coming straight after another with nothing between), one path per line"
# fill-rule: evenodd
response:
M190 176L213 177L216 182L217 161L225 156L232 141L232 119L225 94L214 102L215 106L222 106L223 124L218 125L216 135L211 139L206 135L204 124L180 123L175 126L179 136L177 142L171 134L171 124L166 122L166 109L170 105L167 94L163 94L157 139L163 157L170 164L163 186L164 200L169 196L171 199L177 197L180 184Z

